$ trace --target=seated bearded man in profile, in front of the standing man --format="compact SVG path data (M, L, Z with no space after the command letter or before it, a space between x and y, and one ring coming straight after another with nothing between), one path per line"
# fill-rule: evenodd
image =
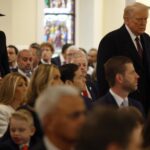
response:
M114 56L105 63L104 68L110 89L106 95L98 99L96 104L116 107L135 106L144 114L142 105L128 97L131 92L137 90L139 79L132 61L125 56Z

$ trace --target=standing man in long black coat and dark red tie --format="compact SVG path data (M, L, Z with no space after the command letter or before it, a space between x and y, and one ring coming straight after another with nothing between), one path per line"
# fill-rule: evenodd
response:
M137 2L128 5L124 10L124 25L101 40L97 57L100 96L108 91L104 63L113 56L127 56L133 61L135 71L140 76L138 90L132 93L131 97L141 101L146 111L150 107L150 37L144 33L148 9L146 5ZM138 42L135 41L136 37L139 38Z

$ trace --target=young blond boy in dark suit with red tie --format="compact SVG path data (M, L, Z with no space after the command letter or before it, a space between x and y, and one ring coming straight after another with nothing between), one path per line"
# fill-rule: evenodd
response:
M0 150L28 150L35 143L32 137L35 133L32 114L20 109L12 114L10 118L9 132L11 139L0 145Z

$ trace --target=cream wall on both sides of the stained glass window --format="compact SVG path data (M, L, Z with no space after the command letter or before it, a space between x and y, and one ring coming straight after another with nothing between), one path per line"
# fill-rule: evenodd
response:
M123 24L123 9L131 1L113 0L112 5L112 0L76 0L77 46L97 48L106 33ZM0 0L0 12L6 14L0 18L0 30L6 33L7 43L24 48L41 42L43 8L44 0Z

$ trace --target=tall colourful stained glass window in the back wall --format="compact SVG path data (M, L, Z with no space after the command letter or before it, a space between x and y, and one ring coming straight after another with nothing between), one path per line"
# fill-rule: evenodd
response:
M43 40L60 50L65 43L74 43L75 0L45 0Z

